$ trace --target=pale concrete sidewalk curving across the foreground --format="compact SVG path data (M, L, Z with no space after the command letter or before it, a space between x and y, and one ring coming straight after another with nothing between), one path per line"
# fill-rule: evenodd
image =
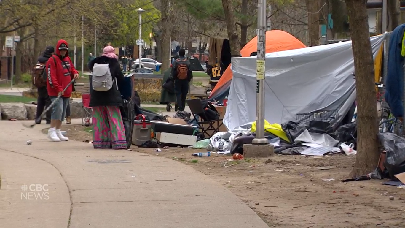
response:
M268 227L228 189L177 161L49 142L40 133L46 125L0 126L1 227ZM49 199L26 199L31 193Z

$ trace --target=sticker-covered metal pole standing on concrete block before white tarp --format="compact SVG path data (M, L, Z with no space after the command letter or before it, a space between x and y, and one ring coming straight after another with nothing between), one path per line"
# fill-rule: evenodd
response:
M252 144L269 144L264 138L264 75L266 60L266 0L257 4L257 60L256 60L256 138Z

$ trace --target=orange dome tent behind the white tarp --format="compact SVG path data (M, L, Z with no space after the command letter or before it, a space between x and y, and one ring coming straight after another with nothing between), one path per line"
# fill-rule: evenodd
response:
M270 30L266 32L266 53L281 52L303 47L306 46L288 32L281 30ZM249 57L253 52L257 52L257 37L254 37L241 49L241 56ZM229 93L231 79L232 70L229 66L221 76L220 81L217 83L208 99L224 99Z

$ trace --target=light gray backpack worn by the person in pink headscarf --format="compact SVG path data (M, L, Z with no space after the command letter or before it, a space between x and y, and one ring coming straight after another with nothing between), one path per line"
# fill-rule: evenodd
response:
M113 87L114 80L113 77L111 76L111 71L110 68L108 67L108 63L106 64L94 63L92 80L93 80L93 90L104 92L110 90Z

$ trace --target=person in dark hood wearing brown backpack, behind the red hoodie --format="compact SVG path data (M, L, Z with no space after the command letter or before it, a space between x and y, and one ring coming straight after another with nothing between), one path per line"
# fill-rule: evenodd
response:
M41 123L41 120L38 120L38 118L42 115L44 109L48 108L48 106L51 104L51 99L49 99L47 91L47 74L45 72L45 64L47 63L48 59L51 58L53 52L55 52L55 49L52 46L48 46L45 49L45 52L38 57L38 62L34 67L34 71L32 72L32 84L34 84L38 91L35 114L36 124ZM46 113L47 124L51 124L51 114L52 110L48 110Z

